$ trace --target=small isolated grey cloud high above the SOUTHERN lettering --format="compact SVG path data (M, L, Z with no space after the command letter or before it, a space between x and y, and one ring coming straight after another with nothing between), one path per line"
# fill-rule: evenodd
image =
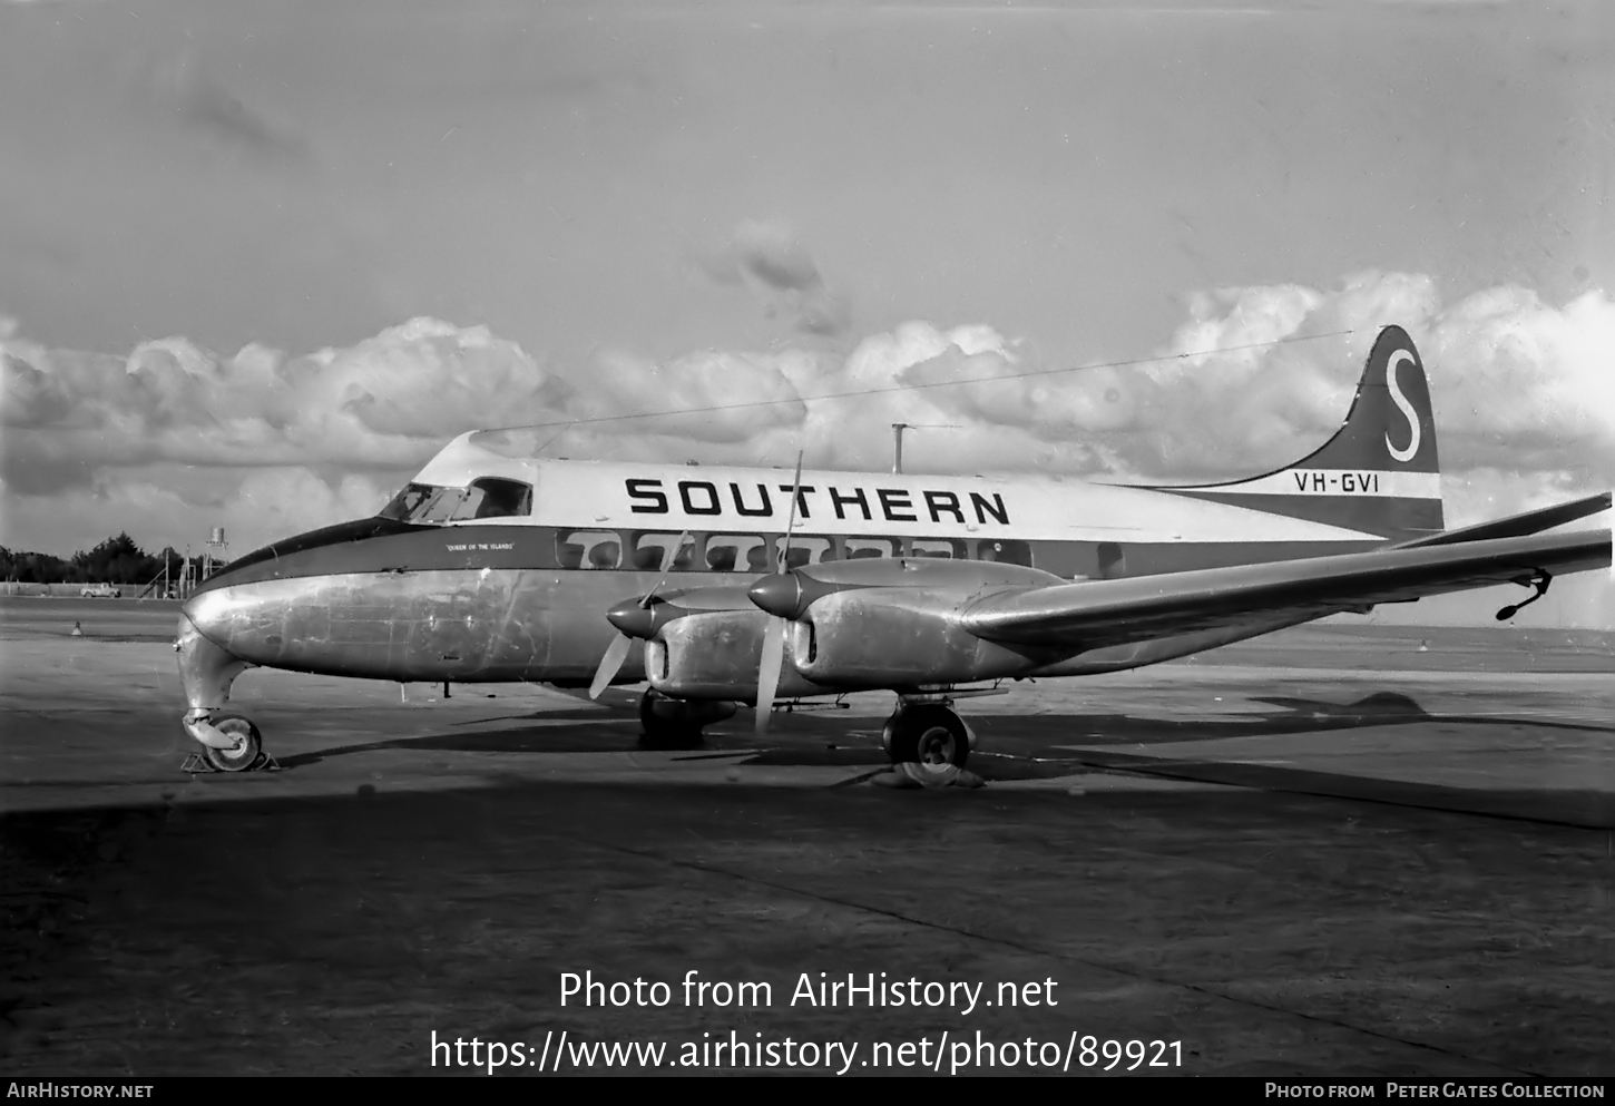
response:
M769 315L793 313L803 333L838 334L851 321L846 297L825 283L808 247L785 223L746 220L699 262L719 284L756 289Z

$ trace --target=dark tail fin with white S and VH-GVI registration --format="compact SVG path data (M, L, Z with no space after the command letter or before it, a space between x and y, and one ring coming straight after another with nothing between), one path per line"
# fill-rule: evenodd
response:
M1397 541L1441 533L1436 421L1413 339L1379 331L1345 425L1310 455L1252 480L1163 491Z

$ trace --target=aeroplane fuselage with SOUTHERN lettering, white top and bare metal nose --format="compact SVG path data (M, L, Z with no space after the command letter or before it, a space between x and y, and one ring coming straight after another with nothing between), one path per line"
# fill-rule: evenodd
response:
M1072 478L543 460L488 431L455 439L381 515L231 563L186 617L257 665L585 685L615 633L614 604L659 581L746 583L782 559L996 560L1084 580L1379 544L1366 531ZM636 646L619 680L641 677Z

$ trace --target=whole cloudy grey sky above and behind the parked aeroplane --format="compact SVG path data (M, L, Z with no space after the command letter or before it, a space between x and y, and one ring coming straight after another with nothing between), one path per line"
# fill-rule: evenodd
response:
M914 471L1237 476L1329 436L1386 323L1449 523L1602 491L1610 23L0 2L0 543L244 552L462 429L762 399L551 452L885 468L911 421ZM1001 379L798 402L954 376Z

